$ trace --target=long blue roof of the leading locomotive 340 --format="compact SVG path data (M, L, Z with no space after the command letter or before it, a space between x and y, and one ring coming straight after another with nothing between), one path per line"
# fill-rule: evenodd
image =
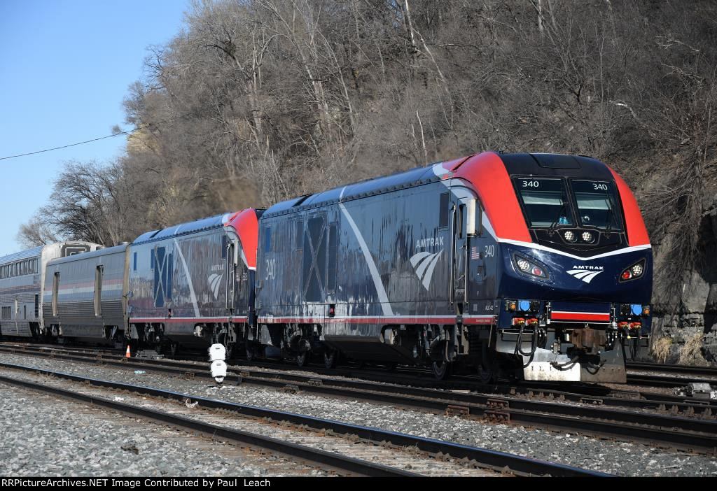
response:
M440 180L433 172L433 165L416 167L415 169L398 172L396 174L367 179L359 183L347 184L313 195L304 195L298 198L282 201L265 211L264 216L285 213L296 208L311 208L322 203L331 203L363 198L364 196L386 193L388 191L410 188L415 185L432 183Z

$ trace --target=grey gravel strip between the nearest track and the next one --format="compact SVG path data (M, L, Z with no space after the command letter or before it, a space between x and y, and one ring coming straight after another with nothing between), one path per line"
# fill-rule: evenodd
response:
M642 444L610 442L576 434L489 424L369 402L302 393L288 394L248 385L227 385L220 389L206 380L180 379L151 371L135 374L133 370L5 353L0 354L0 361L338 419L617 475L717 476L717 459L714 457L657 449Z

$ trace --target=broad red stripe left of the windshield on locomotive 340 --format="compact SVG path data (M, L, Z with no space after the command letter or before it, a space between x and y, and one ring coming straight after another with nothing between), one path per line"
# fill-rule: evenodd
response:
M462 161L444 162L442 166L452 170L453 177L473 185L498 238L533 242L511 176L500 155L483 152Z

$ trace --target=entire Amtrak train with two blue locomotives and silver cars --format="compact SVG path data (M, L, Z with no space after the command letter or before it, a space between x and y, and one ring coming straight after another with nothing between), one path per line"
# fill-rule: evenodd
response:
M651 295L647 229L617 172L482 152L120 246L5 256L0 335L624 383Z

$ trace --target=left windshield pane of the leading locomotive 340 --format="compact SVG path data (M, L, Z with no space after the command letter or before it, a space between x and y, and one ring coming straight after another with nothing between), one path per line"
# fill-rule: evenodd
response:
M516 178L515 181L531 227L573 225L563 180Z

